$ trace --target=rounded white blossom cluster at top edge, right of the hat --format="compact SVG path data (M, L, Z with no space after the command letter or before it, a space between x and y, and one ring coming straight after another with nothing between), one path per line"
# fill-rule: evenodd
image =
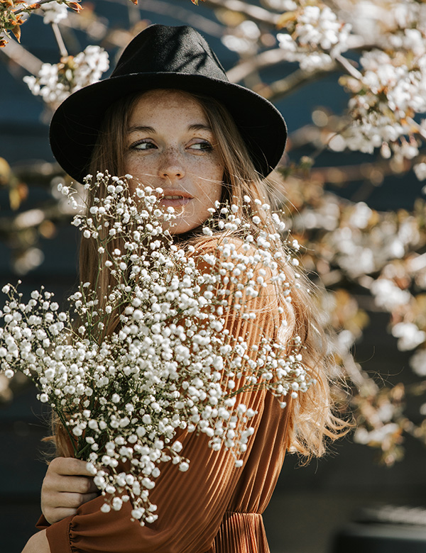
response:
M302 5L290 18L287 29L288 33L277 35L280 48L289 62L299 62L305 71L327 69L334 57L348 49L351 26L339 21L325 4Z

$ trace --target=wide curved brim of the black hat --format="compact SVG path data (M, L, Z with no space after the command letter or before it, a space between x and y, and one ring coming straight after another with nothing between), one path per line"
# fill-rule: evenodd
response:
M179 89L212 96L233 116L259 174L266 177L280 161L287 128L278 109L262 96L239 84L203 75L133 73L85 86L55 111L50 123L50 146L67 174L82 182L89 172L105 110L123 96L152 89Z

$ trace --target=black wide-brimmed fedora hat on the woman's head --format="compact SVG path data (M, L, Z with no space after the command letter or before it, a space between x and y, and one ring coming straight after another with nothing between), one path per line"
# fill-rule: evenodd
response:
M50 146L62 168L82 182L105 110L123 96L151 89L180 89L220 101L261 175L269 174L283 155L287 130L271 102L229 82L214 52L192 27L151 25L131 40L111 77L71 94L55 111Z

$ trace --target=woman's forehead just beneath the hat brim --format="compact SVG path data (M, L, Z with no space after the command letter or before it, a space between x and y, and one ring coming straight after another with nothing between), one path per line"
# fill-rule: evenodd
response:
M136 98L131 119L141 116L156 117L173 112L182 118L199 118L206 121L204 109L200 102L188 92L176 89L154 89Z

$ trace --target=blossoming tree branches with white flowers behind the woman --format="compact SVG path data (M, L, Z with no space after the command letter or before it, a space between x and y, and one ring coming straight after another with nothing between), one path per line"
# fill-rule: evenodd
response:
M128 0L116 4L129 10L129 27L120 31L110 29L84 4L0 1L2 59L23 67L29 92L43 101L47 111L107 71L109 58L99 46L101 41L111 48L122 47L147 24L138 6ZM378 447L382 460L392 464L403 455L406 433L426 442L426 398L416 420L404 410L410 394L424 396L426 390L426 208L419 198L411 211L378 212L368 206L368 194L376 186L386 186L386 177L393 175L413 171L415 177L407 178L426 179L426 4L205 0L203 6L214 12L214 21L197 13L190 1L178 11L173 1L164 0L146 0L141 7L178 18L196 15L200 25L214 28L226 48L239 56L229 69L229 79L271 101L302 87L315 91L324 78L334 79L346 94L343 111L333 105L317 106L312 123L290 133L288 159L277 174L285 179L287 197L278 200L302 245L303 264L312 270L313 279L317 274L324 284L325 318L337 330L335 355L354 390L356 440ZM84 9L76 13L80 8ZM16 41L30 15L43 17L50 27L46 33L53 33L58 43L57 63L43 63ZM92 44L82 52L70 52L64 33L70 28L83 30ZM275 80L266 82L265 74L272 70ZM335 167L317 163L323 152L330 151L336 160L340 158ZM344 153L349 151L368 157L361 164L347 164ZM63 176L50 167L44 186L55 189L58 177ZM38 167L27 167L24 175L19 167L0 160L0 179L9 187L11 206L18 208L26 187L40 182L40 174ZM334 191L356 181L364 181L363 201L342 199ZM20 272L34 266L18 261L35 247L26 243L21 230L32 228L40 236L46 223L63 220L70 220L70 209L56 193L37 217L21 211L0 220L3 240L10 233L18 236L20 254L15 259ZM364 290L362 306L354 286ZM388 332L396 346L412 352L410 369L417 380L410 388L398 382L378 386L352 358L351 346L370 331L368 311L388 313Z

